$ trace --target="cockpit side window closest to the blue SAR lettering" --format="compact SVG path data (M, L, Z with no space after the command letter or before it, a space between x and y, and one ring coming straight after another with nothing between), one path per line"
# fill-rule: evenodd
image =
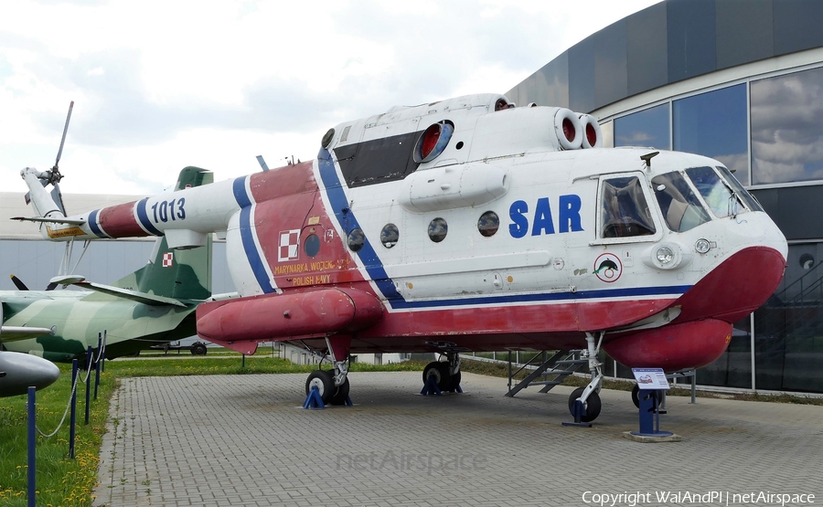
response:
M655 234L655 223L636 176L604 180L601 204L601 238Z

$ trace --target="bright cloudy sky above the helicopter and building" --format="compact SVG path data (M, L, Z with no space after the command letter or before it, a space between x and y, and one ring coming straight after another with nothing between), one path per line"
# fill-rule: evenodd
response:
M0 190L155 194L315 156L331 127L505 93L659 0L16 0L0 7ZM70 210L69 210L70 213Z

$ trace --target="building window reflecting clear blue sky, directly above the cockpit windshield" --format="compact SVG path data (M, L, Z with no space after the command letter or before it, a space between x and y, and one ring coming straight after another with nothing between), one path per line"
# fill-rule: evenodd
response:
M749 185L746 108L745 84L675 100L674 149L719 160Z

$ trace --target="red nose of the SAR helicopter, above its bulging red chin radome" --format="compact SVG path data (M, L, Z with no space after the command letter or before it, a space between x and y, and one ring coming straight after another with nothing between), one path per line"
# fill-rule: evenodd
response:
M745 248L713 269L675 306L681 312L675 322L720 319L737 322L769 299L786 270L786 259L774 248Z

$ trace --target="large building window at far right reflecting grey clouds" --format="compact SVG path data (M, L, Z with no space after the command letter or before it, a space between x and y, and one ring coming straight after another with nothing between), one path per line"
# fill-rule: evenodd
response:
M823 69L751 86L754 185L823 180Z

